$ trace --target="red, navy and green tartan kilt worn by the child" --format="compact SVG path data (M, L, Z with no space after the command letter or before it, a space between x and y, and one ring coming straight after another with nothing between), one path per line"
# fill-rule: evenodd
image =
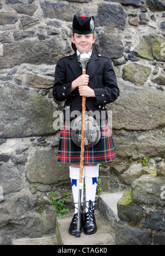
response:
M91 148L85 148L84 164L106 163L117 159L107 119L101 121L100 132L101 138L98 143ZM62 164L80 164L80 152L81 148L75 145L71 138L70 121L65 120L59 138L58 162Z

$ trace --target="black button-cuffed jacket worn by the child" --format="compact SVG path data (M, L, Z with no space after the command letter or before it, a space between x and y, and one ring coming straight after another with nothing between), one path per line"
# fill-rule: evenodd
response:
M69 110L72 113L72 111L81 110L82 97L79 95L78 88L70 93L72 81L82 74L77 58L78 56L74 53L59 59L54 74L53 96L57 101L65 101L64 119L65 111ZM93 112L98 110L101 119L105 118L105 115L107 118L106 104L115 101L119 96L111 59L92 53L91 61L87 63L86 74L89 75L88 86L94 89L96 95L96 98L86 97L86 109Z

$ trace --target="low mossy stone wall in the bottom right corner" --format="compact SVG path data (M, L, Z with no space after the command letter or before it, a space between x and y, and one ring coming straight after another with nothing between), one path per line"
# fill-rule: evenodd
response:
M164 245L164 206L165 164L159 162L156 170L148 168L135 179L118 201L116 244Z

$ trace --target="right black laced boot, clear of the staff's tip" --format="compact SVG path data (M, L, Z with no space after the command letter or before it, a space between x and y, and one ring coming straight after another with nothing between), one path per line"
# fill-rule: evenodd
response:
M86 235L94 234L97 231L94 213L95 208L93 202L89 200L88 212L84 214L84 233Z

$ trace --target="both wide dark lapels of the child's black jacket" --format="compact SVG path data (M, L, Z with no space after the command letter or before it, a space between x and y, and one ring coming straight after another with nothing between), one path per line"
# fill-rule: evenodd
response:
M70 57L69 66L72 69L72 71L75 75L75 78L78 78L82 74L82 69L78 62L78 56L76 55L76 53L74 53ZM99 66L100 66L100 62L98 62L97 55L92 53L91 60L90 60L90 62L87 63L87 67L86 67L86 74L89 75L90 79L93 77L93 75L95 74L95 72Z

